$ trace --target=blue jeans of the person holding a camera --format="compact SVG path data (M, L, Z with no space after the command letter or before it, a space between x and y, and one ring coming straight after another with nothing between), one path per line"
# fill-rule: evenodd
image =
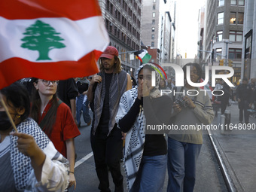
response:
M178 142L168 137L167 192L192 192L196 181L196 164L202 145Z

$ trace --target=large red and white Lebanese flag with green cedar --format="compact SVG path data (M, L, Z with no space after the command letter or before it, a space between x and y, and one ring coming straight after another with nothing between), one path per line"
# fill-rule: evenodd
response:
M99 72L109 38L97 0L1 0L0 8L0 89Z

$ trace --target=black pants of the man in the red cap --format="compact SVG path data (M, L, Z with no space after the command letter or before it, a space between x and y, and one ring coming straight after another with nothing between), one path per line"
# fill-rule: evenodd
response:
M115 191L123 191L123 175L120 171L123 140L120 129L115 125L109 136L96 132L91 133L90 143L93 149L96 173L99 178L99 190L110 191L108 168L111 172Z

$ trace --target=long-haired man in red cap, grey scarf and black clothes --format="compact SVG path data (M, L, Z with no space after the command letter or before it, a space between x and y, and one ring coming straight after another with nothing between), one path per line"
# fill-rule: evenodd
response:
M121 69L118 50L108 46L99 58L100 72L90 81L87 92L93 110L91 146L93 149L99 190L110 191L108 168L115 192L123 191L123 175L120 172L123 138L117 128L116 117L120 97L132 88L130 75Z

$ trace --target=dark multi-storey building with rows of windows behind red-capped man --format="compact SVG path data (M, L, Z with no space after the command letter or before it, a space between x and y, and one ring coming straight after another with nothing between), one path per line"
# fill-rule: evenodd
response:
M99 0L99 6L110 45L119 51L123 69L133 75L139 60L130 59L130 53L141 48L142 0Z

